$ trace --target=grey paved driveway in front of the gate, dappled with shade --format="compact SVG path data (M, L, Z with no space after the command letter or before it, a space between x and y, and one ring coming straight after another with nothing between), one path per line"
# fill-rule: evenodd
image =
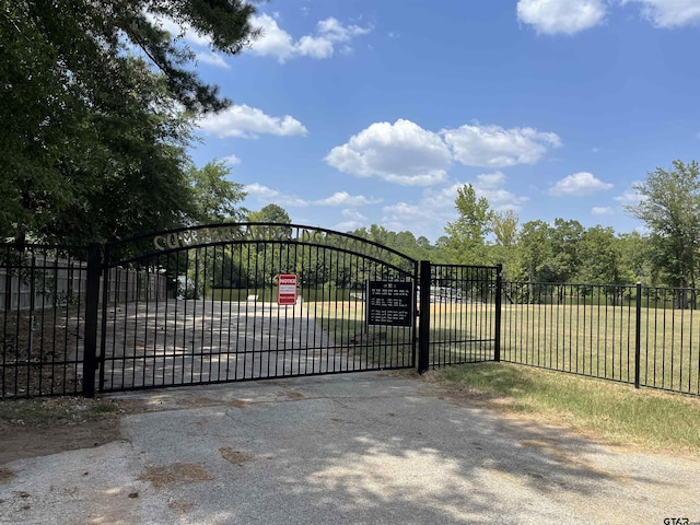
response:
M93 448L5 464L0 523L700 522L700 463L605 446L383 373L120 395ZM685 523L685 522L680 522Z

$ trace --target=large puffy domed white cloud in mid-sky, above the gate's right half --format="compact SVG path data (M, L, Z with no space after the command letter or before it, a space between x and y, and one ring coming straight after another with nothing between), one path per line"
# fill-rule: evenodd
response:
M375 122L330 150L325 161L358 177L376 176L406 186L429 186L446 178L450 150L438 133L410 120Z

